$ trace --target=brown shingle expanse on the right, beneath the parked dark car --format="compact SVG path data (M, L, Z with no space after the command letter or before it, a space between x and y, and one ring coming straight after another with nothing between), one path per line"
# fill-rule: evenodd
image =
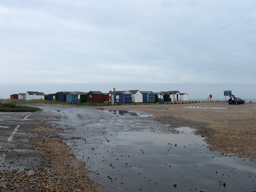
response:
M185 108L185 107L194 108ZM207 108L196 108L196 107ZM147 111L170 125L189 126L204 136L208 147L228 154L256 158L256 103L229 105L224 101L188 104L131 104L105 109Z

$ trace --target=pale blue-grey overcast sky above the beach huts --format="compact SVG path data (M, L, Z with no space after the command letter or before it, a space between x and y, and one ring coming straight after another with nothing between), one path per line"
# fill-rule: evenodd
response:
M1 0L0 98L224 90L256 98L255 0Z

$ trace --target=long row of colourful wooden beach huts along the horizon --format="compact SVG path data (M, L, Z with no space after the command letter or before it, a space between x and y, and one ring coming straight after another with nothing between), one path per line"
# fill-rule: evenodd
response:
M102 93L100 91L90 92L57 92L56 94L44 94L43 92L32 92L12 94L11 99L21 100L58 100L60 102L97 102L102 103L104 101L114 101L119 103L140 103L140 102L161 102L164 99L166 102L186 101L188 100L187 93L180 93L179 91L140 91L140 90L128 90L128 91L110 91L108 93Z

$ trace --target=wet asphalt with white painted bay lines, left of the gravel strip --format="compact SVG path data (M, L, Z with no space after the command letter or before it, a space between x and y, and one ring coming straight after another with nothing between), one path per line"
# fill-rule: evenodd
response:
M0 168L32 170L40 161L40 152L30 149L28 137L22 131L36 112L0 113ZM32 163L33 162L33 163ZM32 167L33 166L33 167Z

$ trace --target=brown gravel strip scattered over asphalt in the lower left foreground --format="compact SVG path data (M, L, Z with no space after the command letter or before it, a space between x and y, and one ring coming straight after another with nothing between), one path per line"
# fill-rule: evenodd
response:
M47 121L35 121L26 130L30 135L31 149L44 152L39 168L26 170L0 170L0 191L23 192L80 192L98 191L98 184L88 178L84 162L70 152L58 135L58 130ZM33 166L34 167L34 166Z

